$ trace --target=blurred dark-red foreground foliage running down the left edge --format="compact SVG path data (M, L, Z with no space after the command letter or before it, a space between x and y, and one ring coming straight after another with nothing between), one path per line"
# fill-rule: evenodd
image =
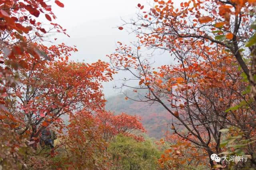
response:
M58 0L55 3L64 7L64 4ZM47 20L43 23L39 16ZM50 59L46 55L48 47L42 45L44 35L51 32L65 33L66 30L59 24L51 22L56 16L48 2L43 0L0 1L0 18L0 126L2 129L1 144L4 146L4 149L1 149L1 157L4 159L1 160L0 166L10 169L26 168L23 158L26 157L28 151L26 145L28 136L25 133L16 134L17 128L26 126L26 123L20 115L10 112L10 98L16 95L10 94L10 88L15 88L18 84L20 68L25 69L33 62L38 63L38 61ZM55 49L58 50L58 47ZM60 52L54 51L54 53L58 55Z

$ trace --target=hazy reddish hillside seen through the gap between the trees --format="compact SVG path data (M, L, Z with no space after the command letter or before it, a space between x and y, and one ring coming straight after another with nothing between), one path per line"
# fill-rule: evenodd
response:
M132 91L125 92L129 97L136 98L137 93ZM140 92L141 93L141 92ZM166 123L170 122L171 116L160 104L148 104L145 102L136 102L134 100L125 100L124 94L107 98L106 110L114 111L116 114L125 112L129 115L139 115L143 126L150 137L160 139L166 132Z

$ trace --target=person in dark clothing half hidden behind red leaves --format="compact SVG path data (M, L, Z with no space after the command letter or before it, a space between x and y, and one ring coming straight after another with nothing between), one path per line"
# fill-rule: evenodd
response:
M50 127L46 127L41 131L40 137L40 146L54 148L54 140L57 139L56 133L50 129Z

